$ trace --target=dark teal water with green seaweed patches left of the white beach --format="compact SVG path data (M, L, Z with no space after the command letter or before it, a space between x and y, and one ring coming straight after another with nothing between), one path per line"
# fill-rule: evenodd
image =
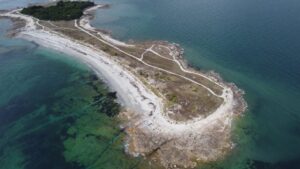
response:
M0 169L147 169L124 152L116 94L66 56L28 48L0 54Z

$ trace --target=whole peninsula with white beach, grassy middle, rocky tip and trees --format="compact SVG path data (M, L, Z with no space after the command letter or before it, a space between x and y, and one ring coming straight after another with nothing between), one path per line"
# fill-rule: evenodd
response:
M70 6L74 11L64 10ZM14 21L15 37L81 60L117 92L128 154L163 168L194 168L230 152L232 122L246 109L243 92L216 73L188 67L177 44L125 43L92 27L93 12L103 7L58 2L0 16ZM58 9L64 12L54 15Z

